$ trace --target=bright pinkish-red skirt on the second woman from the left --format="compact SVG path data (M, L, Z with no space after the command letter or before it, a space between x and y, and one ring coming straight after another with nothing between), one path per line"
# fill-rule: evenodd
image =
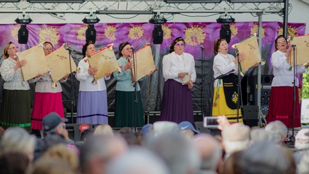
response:
M56 112L64 117L61 93L35 93L31 115L31 128L42 130L42 119L49 113Z

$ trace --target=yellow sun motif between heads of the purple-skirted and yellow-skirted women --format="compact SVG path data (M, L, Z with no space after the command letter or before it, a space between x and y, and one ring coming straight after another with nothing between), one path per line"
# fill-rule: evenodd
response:
M186 44L189 46L197 46L204 42L206 33L203 31L203 27L192 26L191 28L186 28L185 37Z

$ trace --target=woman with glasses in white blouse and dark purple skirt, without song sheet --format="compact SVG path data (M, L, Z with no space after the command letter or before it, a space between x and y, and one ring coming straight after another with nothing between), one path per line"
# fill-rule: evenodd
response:
M195 59L183 52L185 41L182 37L174 39L169 54L163 57L164 88L161 105L161 121L194 124L192 93L197 77ZM188 80L185 80L188 79Z

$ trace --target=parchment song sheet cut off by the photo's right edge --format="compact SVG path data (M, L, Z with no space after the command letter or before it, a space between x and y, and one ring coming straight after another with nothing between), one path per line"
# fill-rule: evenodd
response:
M290 41L290 46L295 46L296 65L307 64L309 62L309 36L294 37ZM290 65L294 64L294 54L291 53Z

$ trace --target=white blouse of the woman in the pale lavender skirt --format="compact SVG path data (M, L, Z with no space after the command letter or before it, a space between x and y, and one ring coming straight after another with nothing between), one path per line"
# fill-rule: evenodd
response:
M85 61L87 57L81 59L79 61L79 72L76 73L75 77L80 82L79 83L79 91L100 91L106 90L105 80L110 79L110 77L104 77L101 79L97 79L97 84L92 84L92 80L94 79L93 75L88 74L89 63Z

